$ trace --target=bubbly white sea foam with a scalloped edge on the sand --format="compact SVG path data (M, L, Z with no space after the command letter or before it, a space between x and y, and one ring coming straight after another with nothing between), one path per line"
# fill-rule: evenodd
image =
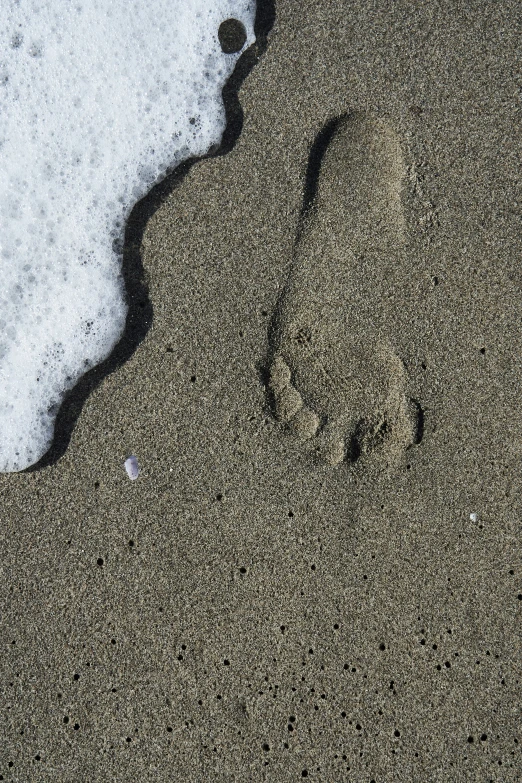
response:
M49 448L64 392L127 308L133 205L225 124L239 54L219 25L254 0L4 0L0 15L0 471ZM244 48L245 48L244 47Z

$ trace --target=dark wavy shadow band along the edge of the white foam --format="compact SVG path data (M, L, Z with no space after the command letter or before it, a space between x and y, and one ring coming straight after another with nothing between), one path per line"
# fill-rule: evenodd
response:
M67 392L60 405L56 418L54 437L50 449L25 473L31 473L57 462L65 453L82 408L94 389L102 380L121 367L130 359L138 345L144 340L153 319L153 307L148 295L140 247L146 225L152 215L165 199L183 182L192 166L206 158L226 155L232 150L243 129L243 110L239 102L238 92L244 80L264 54L268 46L268 34L275 22L275 6L273 0L257 0L256 18L254 22L255 43L244 52L236 63L233 73L223 87L223 102L225 105L226 127L221 143L206 155L189 158L170 172L165 179L139 201L133 208L127 225L122 252L122 274L125 283L128 305L127 320L123 335L110 356L105 361L85 373L76 386ZM230 26L230 28L232 25ZM225 31L226 46L233 46L233 35L238 31ZM220 36L221 39L221 36ZM232 44L230 42L232 41ZM222 43L223 45L223 43ZM233 48L231 49L233 51Z

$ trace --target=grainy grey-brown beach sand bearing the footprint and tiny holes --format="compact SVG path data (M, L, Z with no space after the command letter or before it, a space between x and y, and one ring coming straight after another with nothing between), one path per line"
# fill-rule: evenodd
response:
M0 779L522 778L519 10L278 3L136 210L119 352L0 478Z

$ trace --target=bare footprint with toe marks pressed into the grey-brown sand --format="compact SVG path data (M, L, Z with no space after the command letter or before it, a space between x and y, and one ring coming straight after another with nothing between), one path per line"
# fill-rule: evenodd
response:
M383 336L361 259L388 263L405 241L398 138L355 113L323 132L320 170L270 334L276 417L330 465L373 451L388 461L420 441L419 406ZM363 265L364 267L364 265Z

